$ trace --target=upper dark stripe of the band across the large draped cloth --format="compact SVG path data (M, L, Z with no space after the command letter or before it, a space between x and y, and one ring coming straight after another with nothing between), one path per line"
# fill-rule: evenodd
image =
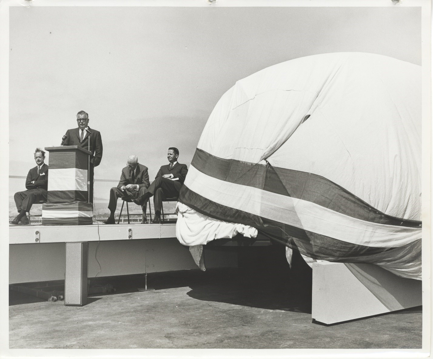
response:
M420 221L386 215L343 187L314 173L223 159L199 148L194 154L191 165L200 172L222 181L304 199L364 221L405 227L421 225Z

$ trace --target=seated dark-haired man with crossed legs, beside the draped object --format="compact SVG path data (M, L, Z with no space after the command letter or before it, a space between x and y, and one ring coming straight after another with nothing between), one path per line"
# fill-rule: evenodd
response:
M178 197L179 191L188 173L187 165L178 163L179 150L176 147L168 149L168 165L161 166L156 174L155 180L151 183L146 193L138 199L134 199L137 204L142 204L148 198L153 197L155 206L155 217L152 223L161 222L162 199L164 197Z

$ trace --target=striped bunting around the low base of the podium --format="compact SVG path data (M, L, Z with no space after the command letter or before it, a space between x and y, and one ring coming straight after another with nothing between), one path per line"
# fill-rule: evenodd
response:
M42 225L89 225L92 222L92 203L44 203L42 205Z

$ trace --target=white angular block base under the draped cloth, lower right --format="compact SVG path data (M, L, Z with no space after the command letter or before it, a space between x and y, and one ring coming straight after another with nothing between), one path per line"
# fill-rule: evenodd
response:
M397 277L375 264L313 263L311 317L325 324L422 304L421 281Z

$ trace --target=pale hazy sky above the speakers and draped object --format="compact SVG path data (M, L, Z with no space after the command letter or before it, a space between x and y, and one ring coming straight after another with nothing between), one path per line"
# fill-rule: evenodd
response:
M189 166L237 80L326 52L420 65L420 36L417 7L10 7L9 174L84 110L103 140L95 178L118 180L136 154L153 179L168 147Z

